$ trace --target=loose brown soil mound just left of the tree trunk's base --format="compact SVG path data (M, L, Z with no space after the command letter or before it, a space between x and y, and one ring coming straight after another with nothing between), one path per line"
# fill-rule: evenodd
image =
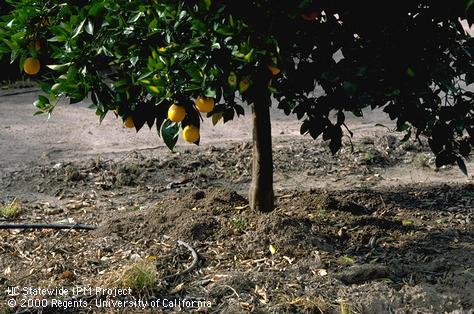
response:
M204 241L221 232L235 208L246 203L235 191L224 188L180 191L148 210L110 217L96 233L98 236L118 234L128 239L166 235Z

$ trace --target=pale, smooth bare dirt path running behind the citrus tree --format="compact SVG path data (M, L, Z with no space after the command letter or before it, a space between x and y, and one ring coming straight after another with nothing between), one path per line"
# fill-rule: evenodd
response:
M149 130L144 127L139 133L136 133L133 129L125 129L121 120L116 119L113 114L109 114L99 125L97 117L91 109L87 108L88 103L86 102L77 105L60 104L51 119L48 120L47 116L33 115L35 108L32 103L36 97L37 93L34 92L34 89L0 91L0 169L2 171L61 161L83 160L97 156L121 158L124 153L134 150L147 151L155 156L172 156L172 153L157 136L155 128ZM201 148L189 145L180 139L176 151L192 151L210 146L233 147L236 144L250 141L251 121L248 108L246 109L245 117L235 119L225 125L220 122L217 126L212 126L209 119L205 119L201 130ZM272 107L271 115L272 135L276 150L288 146L288 143L291 144L292 141L307 143L308 148L311 147L311 143L321 141L313 141L309 136L301 136L299 134L300 121L294 116L285 116L281 110L276 109L276 106ZM366 112L364 118L349 117L347 124L354 132L353 140L356 141L364 139L370 144L374 139L377 142L377 139L380 138L384 141L389 138L390 141L392 137L400 137L398 133L375 126L377 123L393 127L392 121L380 110ZM348 140L345 142L349 144ZM375 144L380 145L381 143ZM370 148L370 145L368 147ZM346 149L348 149L347 146ZM378 184L383 186L443 181L472 182L472 173L474 172L472 162L468 163L471 173L469 178L466 178L454 167L435 172L432 166L426 167L429 163L432 165L432 154L427 151L426 147L422 150L424 155L417 156L416 158L420 160L415 164L410 163L411 165L407 166L408 162L406 162L392 167L384 167L384 177L387 179L378 180ZM304 156L300 157L304 159ZM315 167L317 167L316 163ZM283 188L300 187L301 184L303 187L320 187L330 184L327 181L319 182L317 180L308 182L307 176L304 174L286 179L277 177L276 183L277 187ZM351 182L330 185L341 187L341 184L350 186Z

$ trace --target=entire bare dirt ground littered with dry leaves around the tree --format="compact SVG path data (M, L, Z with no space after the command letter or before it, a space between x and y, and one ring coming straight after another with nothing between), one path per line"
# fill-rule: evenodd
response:
M113 118L98 127L85 105L60 106L45 123L32 117L33 96L0 96L0 205L21 204L0 224L98 228L0 230L0 313L24 310L8 308L7 286L114 287L143 261L158 280L136 298L212 303L184 312L474 310L474 165L470 177L435 170L426 145L375 126L391 126L380 112L350 118L353 147L346 139L333 157L326 143L297 136L293 117L272 111L276 208L258 214L246 206L248 117L206 124L200 147L180 142L172 153L148 130L135 135ZM198 261L174 276L193 260L178 240ZM179 311L99 309L96 299L62 312Z

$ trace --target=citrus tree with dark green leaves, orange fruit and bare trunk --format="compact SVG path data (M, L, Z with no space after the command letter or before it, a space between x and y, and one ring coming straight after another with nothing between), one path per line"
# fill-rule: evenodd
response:
M405 139L428 138L437 166L466 172L474 41L459 19L473 22L473 0L7 2L0 52L38 80L38 113L87 98L100 119L156 125L173 149L180 133L199 144L202 119L225 123L250 105L255 210L273 207L272 98L332 153L351 134L347 112L383 107Z

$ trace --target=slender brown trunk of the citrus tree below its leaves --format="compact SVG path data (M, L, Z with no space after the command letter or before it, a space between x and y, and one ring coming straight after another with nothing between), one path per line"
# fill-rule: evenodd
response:
M253 159L249 203L252 210L273 210L273 160L270 104L268 94L255 99L252 106Z

